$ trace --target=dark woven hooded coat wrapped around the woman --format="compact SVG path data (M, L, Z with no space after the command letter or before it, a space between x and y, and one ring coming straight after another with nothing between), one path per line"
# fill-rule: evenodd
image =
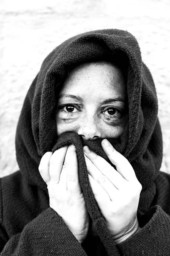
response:
M141 230L115 244L94 199L83 145L108 160L101 139L82 142L78 134L57 137L57 95L71 65L119 59L127 70L129 119L119 139L108 139L133 166L142 184L138 207ZM170 175L160 172L162 137L156 89L142 62L136 41L127 31L105 29L68 39L43 61L28 90L16 133L20 171L0 179L0 255L170 255ZM79 182L90 216L80 244L62 218L49 207L48 190L38 171L43 154L65 145L77 150ZM109 160L108 160L109 161Z

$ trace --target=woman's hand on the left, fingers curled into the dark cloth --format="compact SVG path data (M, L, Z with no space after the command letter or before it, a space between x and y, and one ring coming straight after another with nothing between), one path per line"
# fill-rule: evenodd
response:
M89 217L78 178L77 154L74 145L46 152L39 172L47 184L50 207L82 243L88 233Z

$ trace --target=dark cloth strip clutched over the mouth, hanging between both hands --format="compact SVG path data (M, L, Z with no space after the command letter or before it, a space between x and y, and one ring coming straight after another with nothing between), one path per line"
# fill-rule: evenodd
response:
M108 160L108 157L106 156L106 154L101 148L101 141L102 139L97 139L97 140L89 140L83 143L83 141L81 140L81 137L77 133L66 132L59 137L56 145L52 149L52 152L54 153L54 151L66 145L73 144L76 147L78 168L79 168L79 182L82 187L82 192L85 197L86 207L91 218L91 227L90 227L90 232L88 234L88 244L89 242L93 241L92 242L93 247L96 248L99 241L97 241L96 243L96 239L94 239L94 237L98 235L105 247L105 250L108 251L109 253L115 250L113 239L111 237L111 233L107 228L105 219L102 216L96 204L93 192L91 190L91 186L88 178L88 171L87 171L84 152L83 152L83 145L88 145L89 148L91 148L91 150L97 152L101 157L105 158L105 160ZM101 244L100 246L103 247L103 245ZM100 250L104 250L104 248L102 249L100 248Z

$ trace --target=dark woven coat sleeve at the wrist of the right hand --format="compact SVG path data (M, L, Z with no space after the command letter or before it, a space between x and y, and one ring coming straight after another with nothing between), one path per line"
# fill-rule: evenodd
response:
M141 230L116 245L120 255L169 256L170 216L156 205L147 212L144 219L149 221Z

